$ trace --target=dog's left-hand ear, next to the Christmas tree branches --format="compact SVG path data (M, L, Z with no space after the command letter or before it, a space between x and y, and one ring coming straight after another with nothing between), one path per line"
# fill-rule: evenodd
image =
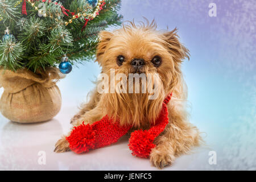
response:
M97 59L103 55L106 51L106 46L108 45L110 39L112 38L114 34L109 31L101 31L99 36L100 36L100 42L98 43L97 46Z

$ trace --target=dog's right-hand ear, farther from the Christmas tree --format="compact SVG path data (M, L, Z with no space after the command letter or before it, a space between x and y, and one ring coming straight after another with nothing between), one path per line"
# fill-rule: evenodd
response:
M163 39L174 60L179 63L185 58L189 60L189 50L180 43L179 36L177 35L177 28L170 32L165 32L163 34Z

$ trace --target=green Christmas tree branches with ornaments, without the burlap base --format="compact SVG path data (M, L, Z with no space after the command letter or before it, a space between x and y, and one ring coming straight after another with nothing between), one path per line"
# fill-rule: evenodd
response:
M121 0L0 0L0 68L33 72L90 60L98 32L121 24ZM65 67L65 65L64 65Z

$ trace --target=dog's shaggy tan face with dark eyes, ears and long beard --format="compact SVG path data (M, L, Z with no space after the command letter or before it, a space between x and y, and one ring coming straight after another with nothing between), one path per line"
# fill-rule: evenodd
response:
M181 45L176 29L170 32L156 31L155 23L135 26L130 23L113 32L102 31L97 49L97 61L102 73L157 73L158 96L148 100L150 93L105 93L102 104L106 113L118 117L121 123L146 125L154 121L162 108L162 102L175 86L181 84L180 63L188 57L188 50ZM153 79L154 80L154 79Z

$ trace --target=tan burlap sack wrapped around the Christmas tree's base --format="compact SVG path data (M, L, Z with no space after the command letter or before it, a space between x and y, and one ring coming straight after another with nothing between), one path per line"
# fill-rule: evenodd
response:
M35 123L48 121L60 111L61 95L56 81L61 78L56 68L43 72L0 69L1 113L11 121Z

